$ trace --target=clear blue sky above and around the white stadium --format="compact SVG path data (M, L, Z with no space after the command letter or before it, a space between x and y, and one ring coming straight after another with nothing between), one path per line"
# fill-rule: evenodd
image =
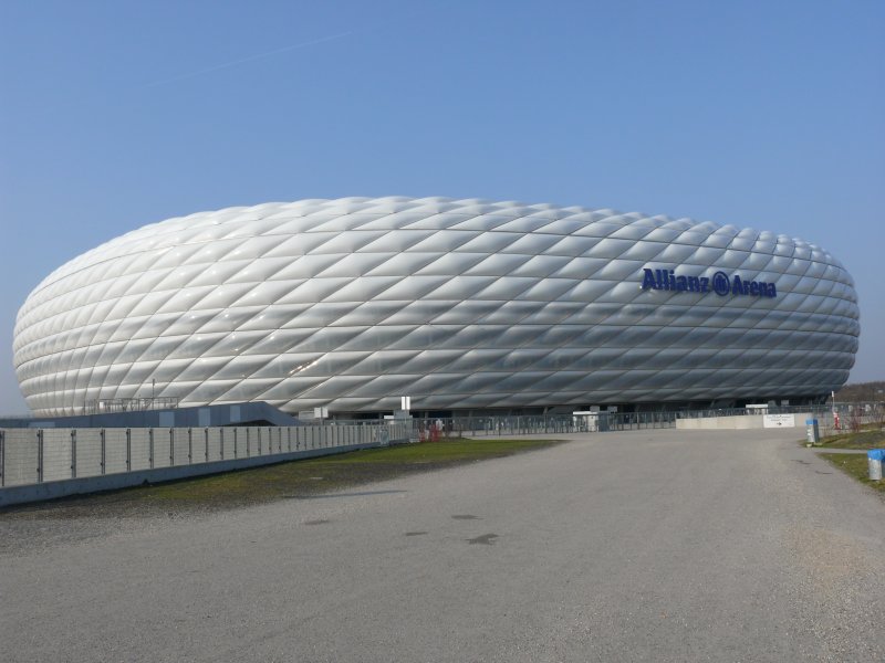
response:
M28 293L101 242L271 200L611 207L800 236L885 379L885 3L0 2L0 412Z

